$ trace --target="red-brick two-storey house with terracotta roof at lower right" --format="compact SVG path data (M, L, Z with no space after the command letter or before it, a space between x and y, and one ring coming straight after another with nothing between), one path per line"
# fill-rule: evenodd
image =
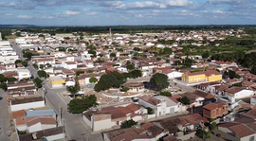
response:
M217 118L228 115L228 103L210 103L203 107L203 114L207 118Z

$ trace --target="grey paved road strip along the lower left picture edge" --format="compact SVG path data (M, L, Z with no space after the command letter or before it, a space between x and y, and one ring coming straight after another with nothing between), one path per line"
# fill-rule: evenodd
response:
M8 112L8 102L7 93L0 89L0 140L9 141L9 112Z

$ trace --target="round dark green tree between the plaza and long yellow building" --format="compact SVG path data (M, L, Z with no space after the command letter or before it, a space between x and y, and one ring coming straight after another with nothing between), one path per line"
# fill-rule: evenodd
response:
M159 92L169 86L168 77L161 73L154 74L150 79L150 83L155 86Z

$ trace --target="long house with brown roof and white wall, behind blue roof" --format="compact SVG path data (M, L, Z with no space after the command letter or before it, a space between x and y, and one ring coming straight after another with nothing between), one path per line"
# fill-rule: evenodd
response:
M43 97L25 97L21 99L10 100L10 111L27 110L29 108L45 107L45 99Z

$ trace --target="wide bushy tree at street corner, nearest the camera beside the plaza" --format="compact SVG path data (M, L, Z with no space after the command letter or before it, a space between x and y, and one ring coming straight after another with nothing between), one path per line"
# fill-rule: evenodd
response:
M95 95L82 96L82 98L73 98L67 104L67 111L72 114L81 114L83 111L98 105Z

